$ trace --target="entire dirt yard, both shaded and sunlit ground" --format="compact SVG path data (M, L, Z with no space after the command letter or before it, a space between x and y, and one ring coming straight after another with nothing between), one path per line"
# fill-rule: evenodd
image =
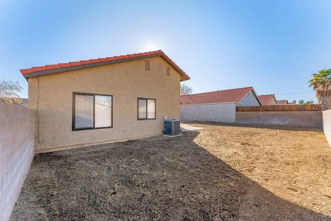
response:
M35 156L10 220L331 220L321 131L195 125Z

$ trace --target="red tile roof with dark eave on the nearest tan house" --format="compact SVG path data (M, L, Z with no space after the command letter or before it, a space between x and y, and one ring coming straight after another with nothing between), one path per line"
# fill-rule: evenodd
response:
M183 70L181 70L181 68L174 63L174 61L172 61L162 50L157 50L154 52L144 52L144 53L139 53L139 54L127 54L127 55L121 55L121 56L112 56L112 57L106 57L103 59L90 59L90 60L86 60L86 61L74 61L74 62L69 62L69 63L58 63L56 65L44 65L44 66L38 66L38 67L31 67L31 68L27 68L27 69L21 69L21 74L23 74L24 77L28 78L30 76L39 76L40 75L44 75L44 74L56 74L59 72L66 72L68 71L68 69L66 70L66 67L73 67L71 70L76 69L75 67L77 67L77 69L80 68L84 68L81 65L91 65L91 64L98 64L98 65L107 65L109 63L107 63L108 61L117 61L117 62L121 62L121 61L126 61L126 59L142 59L143 57L146 56L162 56L165 60L167 60L175 69L177 69L179 71L179 73L181 74L181 81L185 81L185 80L189 80L190 76L188 76L188 74L186 74ZM47 73L46 71L51 70L49 73Z

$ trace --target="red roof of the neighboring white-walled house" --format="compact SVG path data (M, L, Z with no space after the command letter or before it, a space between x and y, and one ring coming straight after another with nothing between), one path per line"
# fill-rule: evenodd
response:
M181 96L181 105L192 105L202 103L235 103L239 102L253 87L242 87L216 92L205 92L200 94L189 94Z

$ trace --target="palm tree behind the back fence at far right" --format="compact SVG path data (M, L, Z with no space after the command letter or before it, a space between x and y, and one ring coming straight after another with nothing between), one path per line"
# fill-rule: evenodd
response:
M316 97L323 109L331 109L331 68L312 74L309 87L316 91Z

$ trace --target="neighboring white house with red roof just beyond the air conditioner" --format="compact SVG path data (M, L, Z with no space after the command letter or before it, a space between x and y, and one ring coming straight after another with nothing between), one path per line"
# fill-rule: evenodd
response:
M253 87L181 96L181 120L235 123L239 106L261 106Z

